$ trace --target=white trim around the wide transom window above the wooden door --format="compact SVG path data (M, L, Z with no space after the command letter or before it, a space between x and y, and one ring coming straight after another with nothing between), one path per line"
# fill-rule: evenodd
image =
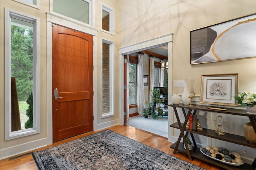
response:
M84 23L82 21L78 21L78 20L75 20L73 18L70 18L68 16L64 16L62 14L59 14L57 12L54 12L53 11L53 0L50 0L50 13L56 17L59 17L61 19L64 19L64 20L68 20L70 22L73 22L73 23L76 23L76 24L79 24L79 25L84 25L85 27L88 27L88 26L93 26L95 27L95 22L94 22L94 1L93 0L83 0L85 2L88 2L89 3L89 24L87 23Z

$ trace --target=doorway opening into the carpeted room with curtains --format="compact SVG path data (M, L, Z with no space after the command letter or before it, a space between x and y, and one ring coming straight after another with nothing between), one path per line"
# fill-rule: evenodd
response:
M141 56L139 62L138 57ZM124 68L124 75L127 78L126 82L126 124L142 129L163 137L168 137L168 71L162 63L168 62L168 45L146 49L136 53L130 53L125 56L126 66ZM140 68L143 67L143 68ZM143 69L143 82L140 85L139 76L142 76L140 69ZM148 105L152 104L152 90L153 87L160 93L159 99L162 104L159 105L161 113L156 113L158 116L148 115L144 118L142 109L150 112ZM143 89L143 108L139 108L138 104L141 102L137 100L137 96L141 94L140 90ZM165 93L163 93L164 89ZM137 102L138 101L138 102ZM129 106L128 106L129 105Z

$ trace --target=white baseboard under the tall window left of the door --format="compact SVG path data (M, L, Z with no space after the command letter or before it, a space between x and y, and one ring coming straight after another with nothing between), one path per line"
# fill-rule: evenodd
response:
M47 146L47 138L0 150L0 160Z

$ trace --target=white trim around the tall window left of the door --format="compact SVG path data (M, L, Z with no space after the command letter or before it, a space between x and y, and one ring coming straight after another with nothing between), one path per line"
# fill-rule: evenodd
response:
M34 34L33 48L34 48L34 83L33 83L33 108L34 108L34 127L29 129L22 129L12 132L12 106L11 106L11 17L29 21L33 23ZM37 17L30 16L15 10L5 8L5 140L16 139L28 135L40 133L40 20Z

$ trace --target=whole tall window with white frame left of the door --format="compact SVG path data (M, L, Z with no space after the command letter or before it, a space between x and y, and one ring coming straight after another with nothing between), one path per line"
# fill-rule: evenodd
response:
M39 133L36 18L6 10L6 140ZM10 38L9 38L10 37ZM38 46L37 46L38 45ZM37 87L38 88L38 87ZM37 101L37 102L36 102ZM36 104L37 103L37 104ZM37 111L36 111L37 110Z

